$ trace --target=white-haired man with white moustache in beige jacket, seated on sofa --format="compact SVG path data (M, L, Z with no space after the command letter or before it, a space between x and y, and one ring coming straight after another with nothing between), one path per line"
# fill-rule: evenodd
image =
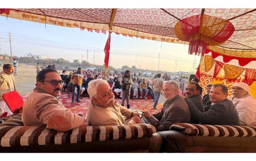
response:
M89 83L88 94L90 103L86 120L90 125L124 125L125 117L133 117L127 124L138 124L139 114L134 113L114 101L109 84L103 79L96 79Z

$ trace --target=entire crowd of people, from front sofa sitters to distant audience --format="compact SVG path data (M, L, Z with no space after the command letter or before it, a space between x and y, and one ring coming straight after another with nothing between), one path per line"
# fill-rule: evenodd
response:
M0 98L3 93L17 90L13 73L15 68L11 64L3 66L0 73ZM129 70L123 74L109 73L109 80L105 81L104 75L99 71L77 71L60 75L56 69L42 69L36 76L36 87L24 101L22 121L25 126L46 126L49 129L67 131L78 126L86 125L126 125L146 123L153 125L157 131L169 130L174 123L193 123L209 125L256 125L256 101L250 95L250 88L246 83L234 83L232 96L228 99L228 88L223 84L206 85L200 87L198 78L191 82L182 78L179 80L161 79L161 74L156 79L149 81L131 76ZM99 78L101 76L101 78ZM165 77L166 78L166 77ZM170 79L170 78L169 78ZM120 81L119 81L120 80ZM182 81L184 80L184 81ZM150 83L151 82L151 83ZM184 92L181 91L182 82L185 84ZM90 104L86 117L68 111L58 100L61 92L72 84L72 100L80 102L80 91L88 93ZM110 86L111 85L111 86ZM182 88L183 88L182 84ZM117 88L115 88L117 87ZM202 96L202 89L207 94ZM121 89L118 97L122 103L114 101L113 89ZM139 114L129 110L129 95L133 90L133 98L142 99L142 92L152 94L153 108L156 108L160 94L163 93L166 101L163 108L156 114L143 111ZM149 92L150 91L150 92ZM120 90L114 90L119 93ZM126 100L127 108L124 107ZM0 100L0 115L8 107ZM130 119L124 119L128 117Z

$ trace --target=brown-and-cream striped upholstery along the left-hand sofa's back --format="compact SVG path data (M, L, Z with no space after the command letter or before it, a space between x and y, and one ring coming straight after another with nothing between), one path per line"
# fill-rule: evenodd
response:
M21 125L21 114L1 124L0 146L13 147L129 139L150 136L156 132L156 128L149 124L81 126L67 132L46 129L44 126Z

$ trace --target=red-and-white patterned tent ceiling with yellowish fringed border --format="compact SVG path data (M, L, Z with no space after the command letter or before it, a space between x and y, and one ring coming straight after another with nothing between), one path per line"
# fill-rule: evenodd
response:
M45 24L108 31L164 42L183 43L177 39L174 26L186 17L204 12L206 15L228 19L235 27L233 35L221 47L237 50L256 50L256 9L199 9L199 8L120 8L113 14L112 8L29 8L10 9L11 18Z

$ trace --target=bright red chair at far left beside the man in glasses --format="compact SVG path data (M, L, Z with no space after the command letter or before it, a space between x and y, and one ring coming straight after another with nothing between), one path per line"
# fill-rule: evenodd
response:
M23 100L17 91L12 91L3 94L3 99L13 112L13 114L19 113L19 109L23 107Z

